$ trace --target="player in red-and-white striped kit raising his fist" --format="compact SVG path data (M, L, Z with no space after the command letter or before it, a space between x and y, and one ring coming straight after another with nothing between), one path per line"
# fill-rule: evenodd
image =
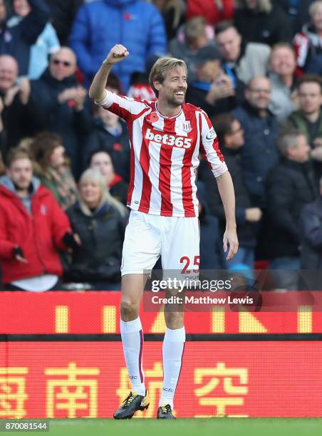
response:
M224 204L227 221L224 251L229 245L228 260L238 247L232 178L206 113L185 103L185 62L159 58L150 71L150 85L157 101L140 101L105 90L110 69L128 55L124 46L114 46L90 86L90 98L95 103L125 119L131 146L128 206L132 210L123 245L120 331L133 390L115 412L115 419L130 418L149 405L142 370L143 333L139 317L140 300L149 272L160 256L163 279L168 273L165 270L177 271L182 279L188 270L194 274L199 272L194 172L199 165L199 150L212 167ZM185 344L182 306L167 304L165 323L164 383L157 418L174 419L173 399Z

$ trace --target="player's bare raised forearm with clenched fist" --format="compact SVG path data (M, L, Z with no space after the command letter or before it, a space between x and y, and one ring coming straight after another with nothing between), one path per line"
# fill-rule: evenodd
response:
M128 49L121 44L116 44L110 49L110 53L108 53L108 56L105 58L105 61L103 61L90 85L89 95L90 98L93 98L95 103L100 104L106 97L105 85L113 65L123 61L128 55Z

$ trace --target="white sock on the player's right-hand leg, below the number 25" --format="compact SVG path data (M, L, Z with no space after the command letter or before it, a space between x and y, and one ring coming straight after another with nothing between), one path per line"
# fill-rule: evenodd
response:
M172 330L167 328L163 340L163 388L159 407L170 404L173 409L173 398L180 377L182 355L185 349L185 327Z

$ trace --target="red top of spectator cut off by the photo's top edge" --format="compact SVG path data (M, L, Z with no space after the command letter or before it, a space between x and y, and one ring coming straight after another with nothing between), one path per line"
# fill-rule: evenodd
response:
M234 0L222 0L222 10L218 9L214 0L187 0L186 20L195 16L204 16L208 24L229 20L234 16Z

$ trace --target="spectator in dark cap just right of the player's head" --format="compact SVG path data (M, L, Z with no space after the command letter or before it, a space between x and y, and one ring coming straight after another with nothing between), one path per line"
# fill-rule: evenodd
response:
M230 112L244 100L243 82L233 82L220 66L217 49L206 46L194 62L194 80L187 90L187 102L199 106L210 116Z

